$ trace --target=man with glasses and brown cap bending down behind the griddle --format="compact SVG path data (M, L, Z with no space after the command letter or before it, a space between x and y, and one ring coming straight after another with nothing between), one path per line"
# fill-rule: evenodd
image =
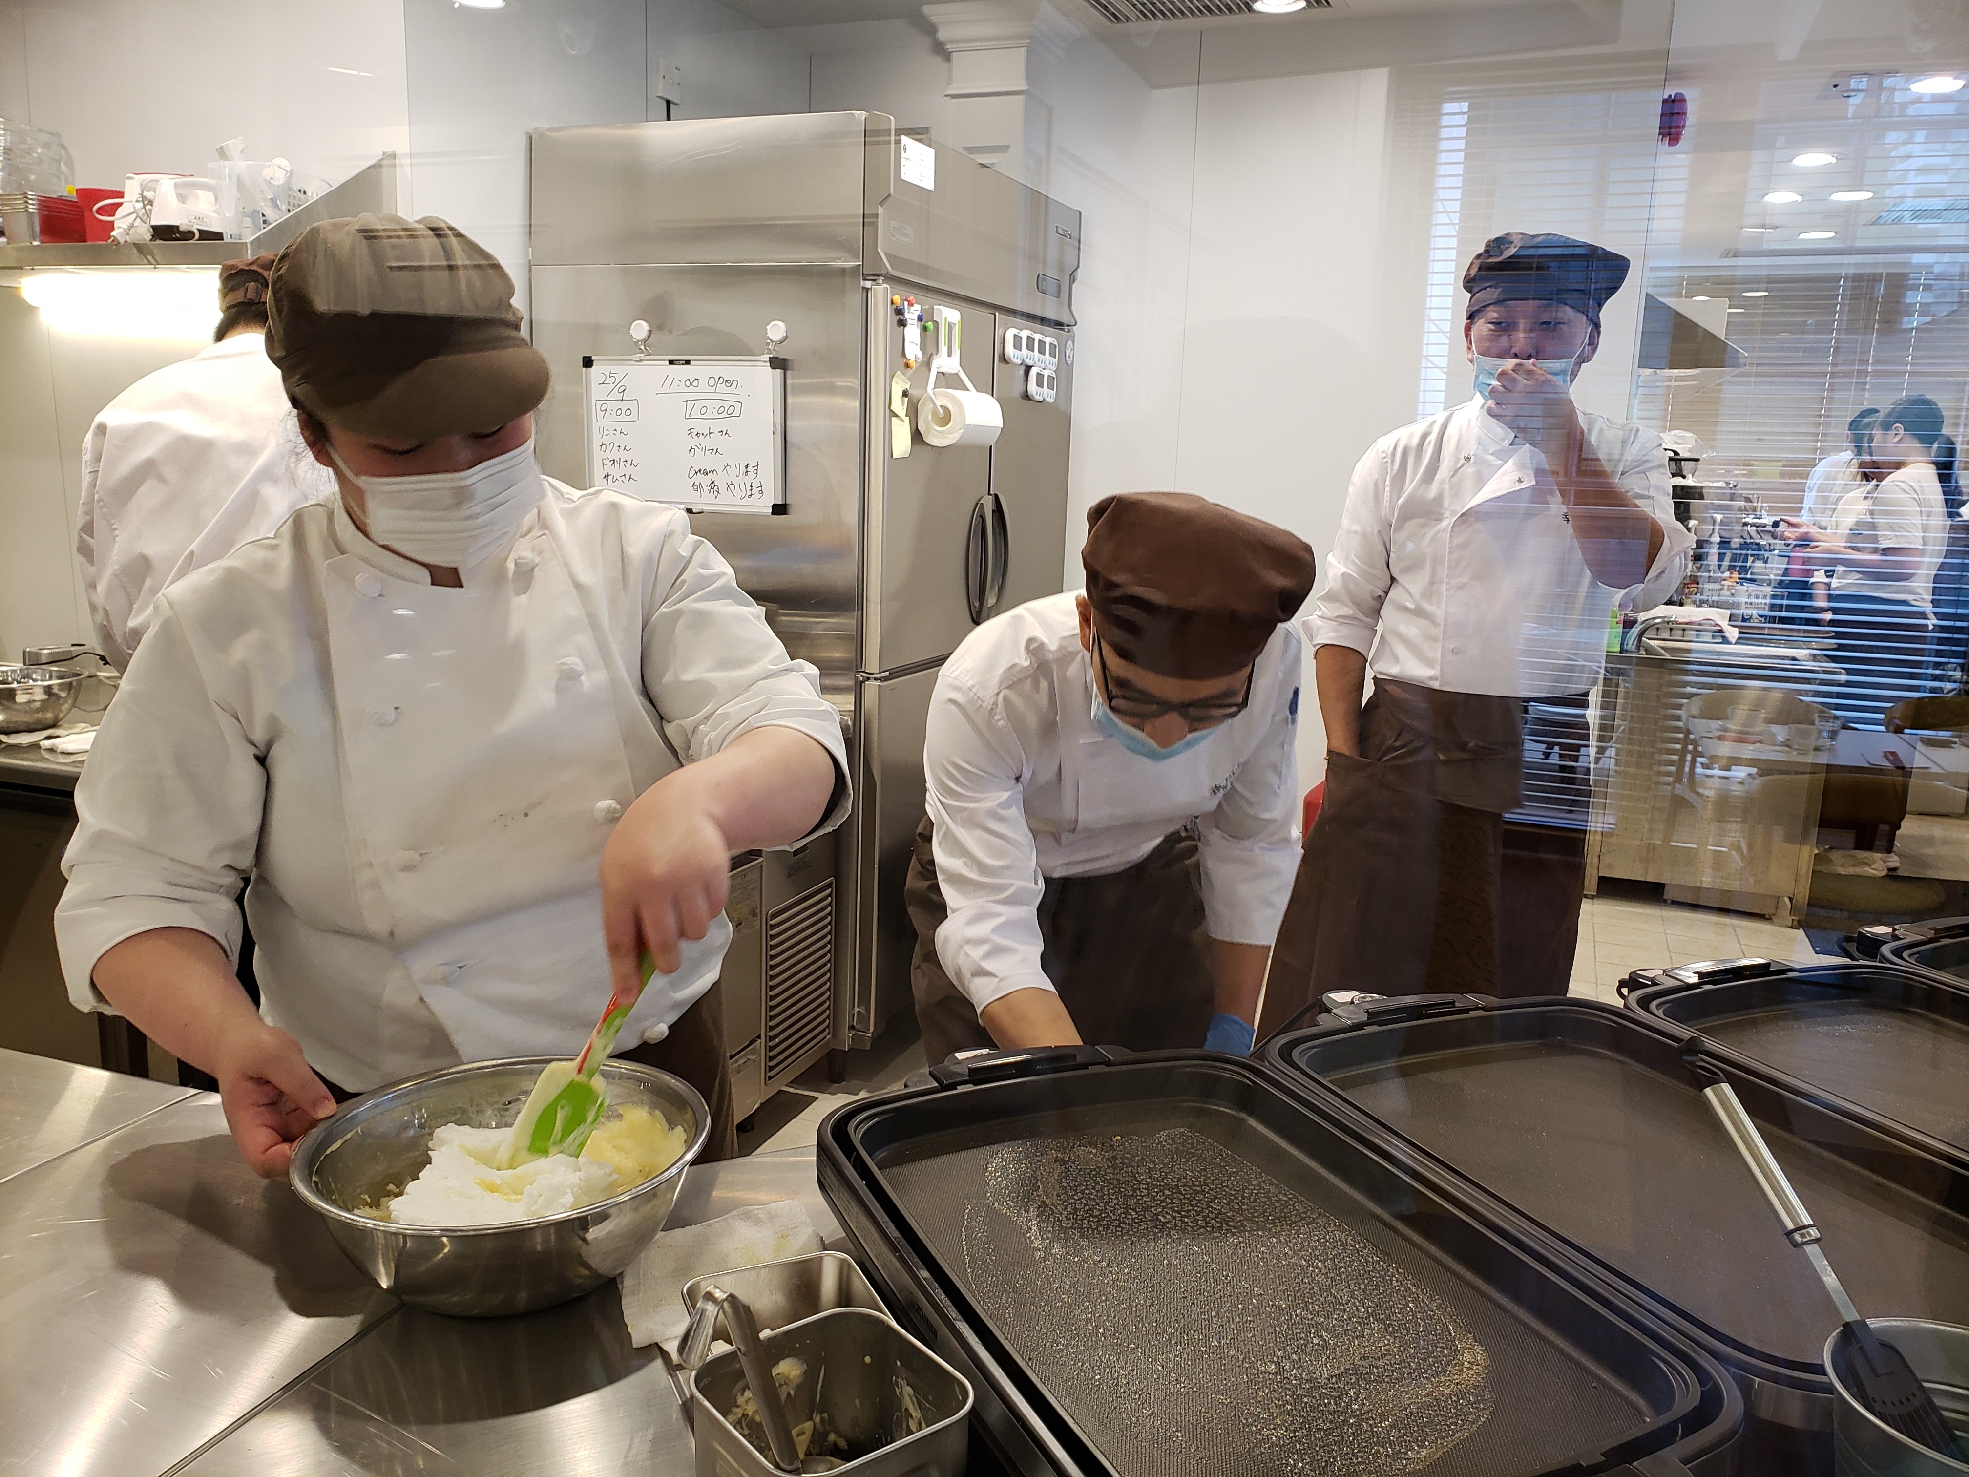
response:
M1246 1054L1296 863L1313 551L1185 492L1087 512L1085 593L937 674L908 906L931 1063L965 1048Z

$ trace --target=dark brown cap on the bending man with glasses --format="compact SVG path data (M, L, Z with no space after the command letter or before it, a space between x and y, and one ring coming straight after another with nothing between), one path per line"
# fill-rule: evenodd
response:
M1101 642L1164 677L1258 660L1313 587L1305 540L1189 492L1118 492L1087 510L1087 603Z

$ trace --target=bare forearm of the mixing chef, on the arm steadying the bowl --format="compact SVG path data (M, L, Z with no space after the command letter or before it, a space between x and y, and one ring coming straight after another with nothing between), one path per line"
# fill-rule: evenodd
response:
M195 928L134 933L96 959L96 989L179 1061L217 1071L226 1036L258 1028L226 951Z

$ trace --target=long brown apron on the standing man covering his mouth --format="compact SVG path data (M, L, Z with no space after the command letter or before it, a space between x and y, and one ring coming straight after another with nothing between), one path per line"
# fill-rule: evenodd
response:
M1376 681L1361 756L1327 754L1258 1038L1339 989L1563 995L1585 833L1506 821L1522 778L1520 699Z

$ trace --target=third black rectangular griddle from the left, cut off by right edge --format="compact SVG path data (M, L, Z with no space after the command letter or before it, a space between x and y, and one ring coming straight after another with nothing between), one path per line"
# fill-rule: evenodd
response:
M1939 947L1969 955L1969 939ZM1969 971L1723 959L1654 979L1632 1008L1969 1164Z

